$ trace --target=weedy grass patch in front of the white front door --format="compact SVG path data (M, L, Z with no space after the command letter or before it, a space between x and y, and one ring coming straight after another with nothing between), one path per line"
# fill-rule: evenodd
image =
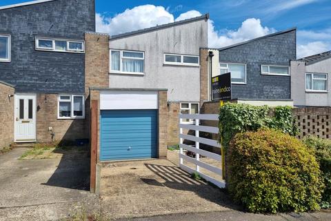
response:
M86 148L77 146L60 146L57 142L53 143L37 143L32 148L23 153L19 160L31 159L49 159L61 157L63 153L70 151L85 152Z

